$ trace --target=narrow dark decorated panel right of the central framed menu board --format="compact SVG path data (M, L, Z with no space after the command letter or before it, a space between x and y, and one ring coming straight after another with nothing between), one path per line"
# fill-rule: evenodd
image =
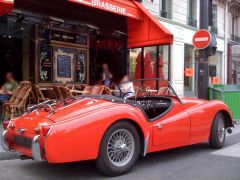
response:
M87 82L87 51L77 51L76 53L75 80L76 83Z

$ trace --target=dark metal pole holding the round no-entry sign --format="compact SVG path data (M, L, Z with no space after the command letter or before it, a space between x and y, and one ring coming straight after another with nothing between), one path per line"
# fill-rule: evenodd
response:
M211 0L200 1L200 29L207 29L211 19ZM198 68L198 98L208 99L208 52L207 49L199 50Z

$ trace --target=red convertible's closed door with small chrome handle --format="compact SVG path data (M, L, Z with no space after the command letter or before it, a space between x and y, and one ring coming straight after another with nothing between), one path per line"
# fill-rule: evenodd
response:
M172 109L152 125L153 146L159 150L189 144L190 115L179 101L173 100L173 103Z

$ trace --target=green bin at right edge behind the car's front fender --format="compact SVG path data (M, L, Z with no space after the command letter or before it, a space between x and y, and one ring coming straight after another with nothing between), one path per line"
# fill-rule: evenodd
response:
M209 100L224 101L232 111L234 121L240 120L240 85L210 85Z

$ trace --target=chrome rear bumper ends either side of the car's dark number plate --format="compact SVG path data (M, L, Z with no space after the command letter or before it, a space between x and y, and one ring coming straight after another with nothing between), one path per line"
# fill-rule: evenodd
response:
M7 130L2 133L1 142L5 151L12 151L7 140ZM37 161L42 161L41 148L40 148L40 135L36 135L32 139L31 145L32 158Z

